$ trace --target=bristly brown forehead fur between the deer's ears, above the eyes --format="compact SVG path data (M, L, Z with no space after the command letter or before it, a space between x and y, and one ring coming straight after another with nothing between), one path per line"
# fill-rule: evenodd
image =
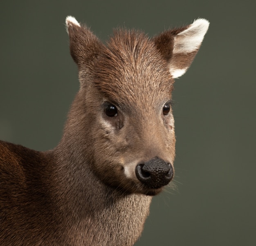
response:
M139 31L115 30L95 65L95 83L110 100L170 99L173 80L167 63L153 40Z

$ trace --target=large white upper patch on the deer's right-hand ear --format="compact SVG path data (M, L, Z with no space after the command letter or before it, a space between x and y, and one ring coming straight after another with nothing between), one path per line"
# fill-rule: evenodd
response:
M209 21L198 19L174 38L173 53L190 53L197 50L209 27Z

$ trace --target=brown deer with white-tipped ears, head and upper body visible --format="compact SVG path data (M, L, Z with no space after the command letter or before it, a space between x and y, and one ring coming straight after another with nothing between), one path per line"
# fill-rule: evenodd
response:
M174 80L209 22L154 37L119 28L106 43L65 22L80 88L54 149L0 141L0 245L134 245L173 183Z

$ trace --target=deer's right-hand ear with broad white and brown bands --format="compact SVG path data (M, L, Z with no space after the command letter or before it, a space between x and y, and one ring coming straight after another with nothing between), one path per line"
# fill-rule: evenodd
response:
M191 65L209 27L205 19L198 19L186 27L165 31L154 42L168 61L173 78L182 76Z

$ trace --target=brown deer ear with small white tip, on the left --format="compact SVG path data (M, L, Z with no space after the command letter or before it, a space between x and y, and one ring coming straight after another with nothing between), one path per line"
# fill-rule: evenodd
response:
M70 54L80 69L90 72L101 49L101 42L72 16L66 18L66 29L70 37Z

